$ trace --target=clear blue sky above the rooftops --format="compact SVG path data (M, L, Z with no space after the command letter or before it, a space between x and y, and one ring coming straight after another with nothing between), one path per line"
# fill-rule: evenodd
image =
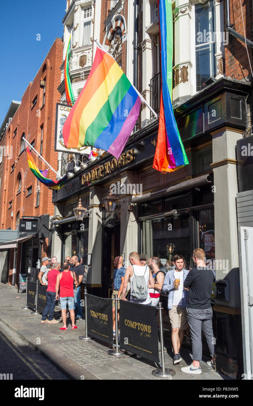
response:
M0 125L11 101L21 102L56 37L63 36L65 9L65 0L1 2Z

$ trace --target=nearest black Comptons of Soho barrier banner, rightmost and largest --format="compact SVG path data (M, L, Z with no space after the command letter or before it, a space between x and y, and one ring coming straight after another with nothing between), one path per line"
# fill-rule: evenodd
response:
M120 348L159 363L157 309L121 300Z

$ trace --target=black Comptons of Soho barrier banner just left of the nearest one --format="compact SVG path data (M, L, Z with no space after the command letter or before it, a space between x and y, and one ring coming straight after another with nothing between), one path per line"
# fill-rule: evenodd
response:
M88 334L112 344L112 300L86 294L86 303Z

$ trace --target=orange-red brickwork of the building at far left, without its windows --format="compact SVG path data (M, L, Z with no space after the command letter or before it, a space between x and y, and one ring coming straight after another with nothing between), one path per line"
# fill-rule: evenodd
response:
M11 124L6 130L6 144L13 148L13 158L11 160L4 160L4 172L6 178L4 188L2 188L2 196L0 197L0 210L1 210L1 229L11 227L15 229L16 214L19 211L20 216L40 216L42 214L54 213L54 205L52 204L52 190L43 186L40 183L41 192L39 206L36 206L37 197L37 179L32 174L28 167L26 150L20 155L21 137L25 133L28 142L32 143L35 140L35 149L40 151L41 143L41 125L43 124L43 151L42 156L50 165L57 170L58 153L54 151L54 127L55 127L55 114L56 103L59 101L61 95L57 90L61 82L63 42L61 39L56 38L48 55L43 61L37 75L33 82L30 82L22 96L22 102L17 109ZM46 75L46 92L45 104L43 102L43 87L40 86L40 80L43 80ZM32 100L37 95L37 103L31 109ZM17 135L14 136L14 130L17 128ZM4 142L4 141L2 141ZM36 164L40 169L45 166L35 155L32 154ZM15 169L11 172L11 166L14 161ZM2 165L1 165L2 166ZM17 194L17 176L19 172L22 174L22 188L21 193ZM54 176L52 171L48 173ZM1 176L1 172L0 172ZM32 186L32 194L27 196L27 188ZM25 190L25 192L24 192ZM9 202L13 199L12 208L8 209ZM13 218L11 212L13 211Z

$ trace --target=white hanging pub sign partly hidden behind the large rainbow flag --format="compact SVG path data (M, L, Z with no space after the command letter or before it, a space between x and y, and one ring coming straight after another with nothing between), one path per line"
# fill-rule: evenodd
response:
M80 153L89 155L91 147L66 148L63 142L63 125L69 115L71 106L56 103L54 150L59 152Z

